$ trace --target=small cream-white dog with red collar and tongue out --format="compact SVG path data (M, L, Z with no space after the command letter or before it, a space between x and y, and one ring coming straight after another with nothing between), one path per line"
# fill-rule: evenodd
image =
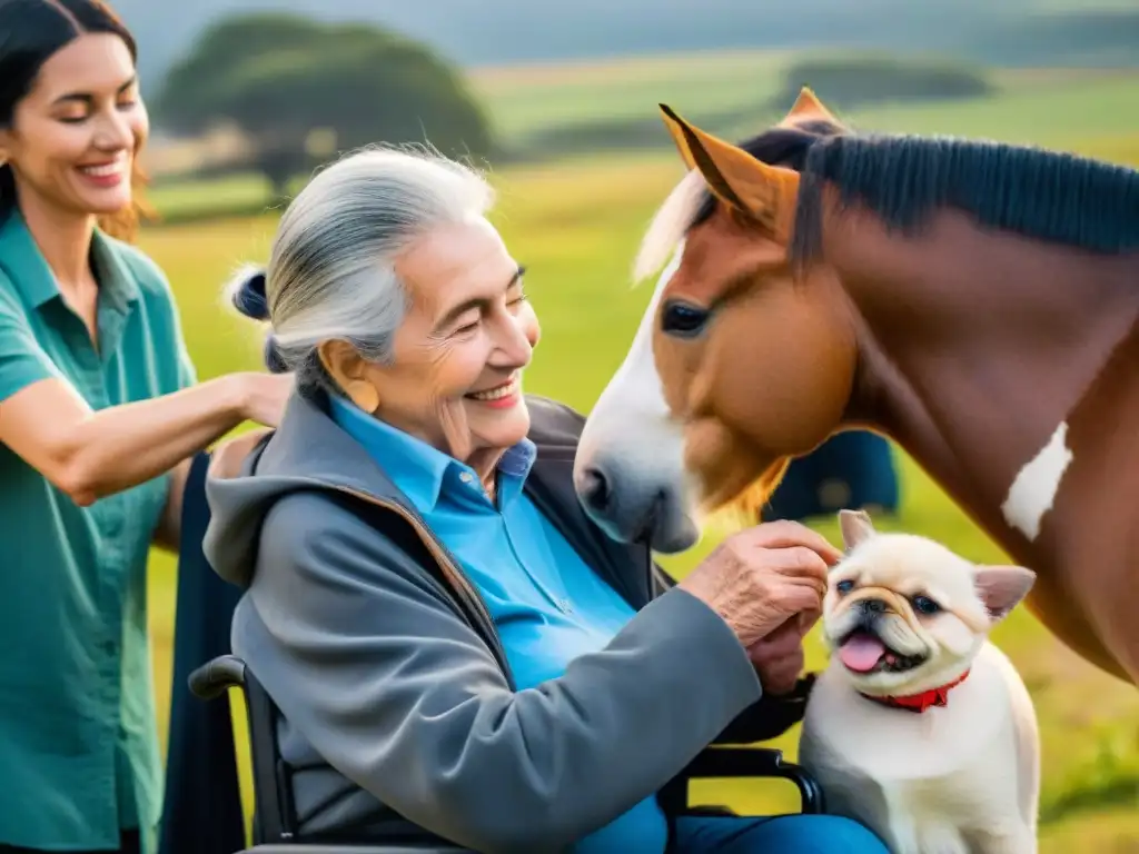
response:
M839 522L846 556L822 613L831 658L800 741L827 812L894 854L1034 853L1035 709L989 632L1035 574L877 533L861 511Z

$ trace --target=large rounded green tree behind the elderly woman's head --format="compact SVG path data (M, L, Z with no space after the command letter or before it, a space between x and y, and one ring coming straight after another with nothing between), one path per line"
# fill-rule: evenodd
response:
M427 142L485 157L492 148L462 76L425 47L292 15L245 15L212 27L171 72L156 116L183 133L236 124L279 194L312 163L314 133L339 150Z

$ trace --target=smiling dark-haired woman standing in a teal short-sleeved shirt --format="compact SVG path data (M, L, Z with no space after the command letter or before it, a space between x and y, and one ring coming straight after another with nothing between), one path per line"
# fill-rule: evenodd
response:
M0 0L0 851L154 851L153 543L188 461L289 378L196 384L129 239L148 131L98 0Z

